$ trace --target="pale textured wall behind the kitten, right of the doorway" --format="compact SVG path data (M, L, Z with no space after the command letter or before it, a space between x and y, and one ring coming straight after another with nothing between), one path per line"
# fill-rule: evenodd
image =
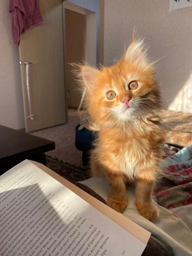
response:
M158 62L164 108L192 112L192 7L168 13L169 1L105 0L104 64L130 43L134 26Z

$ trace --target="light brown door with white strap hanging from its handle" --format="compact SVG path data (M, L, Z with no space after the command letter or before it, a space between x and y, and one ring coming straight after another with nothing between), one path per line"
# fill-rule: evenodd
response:
M39 5L43 22L22 34L19 43L27 132L66 122L62 0L39 0Z

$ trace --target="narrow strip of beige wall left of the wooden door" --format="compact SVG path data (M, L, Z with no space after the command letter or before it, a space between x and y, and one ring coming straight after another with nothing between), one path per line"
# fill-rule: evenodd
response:
M0 124L25 127L19 50L13 44L9 1L2 1L0 8Z

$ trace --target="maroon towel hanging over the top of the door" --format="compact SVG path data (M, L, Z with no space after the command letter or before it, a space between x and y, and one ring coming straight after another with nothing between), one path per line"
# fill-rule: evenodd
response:
M43 21L38 0L10 0L9 12L12 14L12 32L15 45L19 44L21 34Z

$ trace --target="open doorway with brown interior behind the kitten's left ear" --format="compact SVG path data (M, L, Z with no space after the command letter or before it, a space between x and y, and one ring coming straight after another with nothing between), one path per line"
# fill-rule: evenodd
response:
M78 108L81 101L79 85L74 80L70 63L97 64L97 13L64 2L65 68L68 107Z

